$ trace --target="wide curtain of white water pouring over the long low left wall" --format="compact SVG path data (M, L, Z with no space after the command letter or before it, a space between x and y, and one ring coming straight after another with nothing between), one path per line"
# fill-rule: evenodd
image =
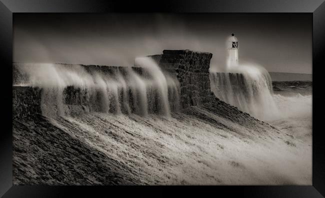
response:
M139 68L15 63L21 79L14 85L41 88L45 116L84 111L104 113L158 113L179 109L179 82L161 71L150 58L136 58ZM104 72L103 70L109 70Z

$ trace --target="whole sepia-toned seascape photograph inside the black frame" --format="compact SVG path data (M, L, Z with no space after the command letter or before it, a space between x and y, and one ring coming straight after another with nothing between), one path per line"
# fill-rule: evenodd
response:
M15 13L12 28L14 185L312 185L312 15Z

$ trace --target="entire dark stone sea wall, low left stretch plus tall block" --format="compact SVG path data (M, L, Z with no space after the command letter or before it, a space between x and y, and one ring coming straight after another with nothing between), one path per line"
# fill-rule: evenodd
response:
M163 54L150 56L154 61L157 62L159 67L162 69L163 73L168 75L166 78L168 86L168 101L171 110L178 110L179 108L187 108L192 105L200 105L205 102L211 102L215 96L210 89L210 79L209 79L209 63L212 57L211 53L208 52L198 52L191 50L163 50ZM106 95L102 93L102 90L95 89L86 90L80 89L80 87L74 87L71 85L65 86L64 90L61 91L62 96L53 98L52 89L43 88L32 88L26 86L29 81L28 76L23 72L23 66L21 63L13 63L12 65L12 77L13 81L13 117L26 117L32 113L41 113L42 109L50 105L50 101L59 101L59 103L54 106L58 108L61 106L68 106L68 110L79 106L78 109L86 110L89 109L94 111L103 112L122 112L130 113L135 112L143 114L141 111L143 108L147 108L147 112L157 112L161 111L161 94L159 89L156 87L146 86L146 102L147 104L141 105L140 102L140 92L139 90L132 88L134 85L126 87L117 87L117 89L112 89L115 91L113 96L109 96L109 104L107 107ZM22 63L23 64L23 63ZM129 70L142 76L142 79L146 79L146 76L150 76L147 70L139 67L139 65L134 65L132 67L122 67L122 66L104 66L104 65L83 65L83 64L61 64L57 63L60 68L70 68L73 67L83 67L84 70L92 75L100 72L104 75L114 76L122 75L124 79L129 76ZM19 68L19 66L22 66ZM31 65L33 66L33 65ZM56 65L52 65L56 67ZM62 67L63 66L63 67ZM33 68L33 67L31 67ZM36 69L37 67L35 67ZM30 65L29 65L30 72ZM33 71L32 71L33 72ZM169 83L177 81L176 84L172 86ZM149 84L150 84L149 80ZM176 88L175 88L176 87ZM44 89L45 88L45 89ZM25 97L26 95L26 97ZM45 102L49 102L45 106L41 105L41 98L48 97ZM145 97L145 96L144 96ZM34 98L34 99L33 99ZM62 101L62 102L61 102ZM65 108L65 107L64 107ZM56 111L51 109L51 111ZM66 111L66 109L64 109ZM27 113L25 113L27 112Z

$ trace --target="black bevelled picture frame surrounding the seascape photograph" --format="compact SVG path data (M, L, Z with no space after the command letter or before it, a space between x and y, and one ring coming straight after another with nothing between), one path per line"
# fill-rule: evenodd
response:
M312 185L284 186L12 186L12 15L17 12L307 12L312 14ZM57 197L148 194L169 195L175 190L203 196L247 197L323 197L325 195L325 146L321 89L325 55L324 0L0 0L0 65L1 65L1 132L0 196ZM127 188L127 189L126 189ZM141 191L141 192L140 192Z

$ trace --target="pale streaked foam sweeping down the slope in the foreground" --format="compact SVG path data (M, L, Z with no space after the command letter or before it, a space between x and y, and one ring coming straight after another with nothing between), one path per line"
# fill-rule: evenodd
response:
M209 119L184 113L166 119L91 112L53 123L134 172L150 173L141 179L151 184L310 183L310 146L294 140L296 146L288 146L285 134L256 135L239 123L193 108Z

